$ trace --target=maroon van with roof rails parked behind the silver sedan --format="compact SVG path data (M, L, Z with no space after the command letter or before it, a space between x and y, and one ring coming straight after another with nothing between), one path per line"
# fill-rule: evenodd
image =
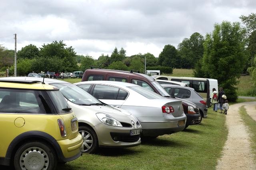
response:
M164 88L156 81L154 78L145 75L128 71L120 71L120 70L108 70L108 69L87 69L84 72L82 77L82 81L90 81L90 80L110 80L110 81L120 81L120 82L129 82L132 84L137 84L148 90L156 92L161 96L166 98L174 99L170 96ZM183 99L174 99L174 100L182 100L182 106L184 109L184 113L187 116L186 127L188 125L199 124L202 121L202 117L207 117L207 114L200 114L198 107Z

